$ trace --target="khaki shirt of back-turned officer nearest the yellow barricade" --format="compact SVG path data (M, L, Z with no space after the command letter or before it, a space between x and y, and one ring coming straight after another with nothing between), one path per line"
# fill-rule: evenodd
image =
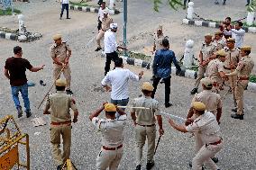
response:
M50 94L45 105L46 111L50 109L50 121L54 122L70 121L70 108L74 112L78 112L75 100L64 91L57 91L55 94Z

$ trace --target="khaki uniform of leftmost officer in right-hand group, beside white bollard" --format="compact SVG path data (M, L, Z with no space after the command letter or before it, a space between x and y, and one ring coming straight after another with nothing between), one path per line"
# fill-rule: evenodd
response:
M203 61L206 60L207 58L210 58L212 55L214 55L214 52L216 51L216 46L214 43L210 43L206 45L206 42L203 42L203 45L201 47L201 52L203 54ZM198 88L200 84L200 80L203 78L203 76L206 73L206 66L199 66L198 67L198 72L197 72L197 80L195 83L195 88Z

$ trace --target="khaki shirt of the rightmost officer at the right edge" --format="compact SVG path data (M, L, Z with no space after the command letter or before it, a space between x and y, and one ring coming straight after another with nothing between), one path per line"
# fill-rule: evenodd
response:
M251 75L251 70L254 67L254 63L249 56L243 57L236 70L238 71L238 76L249 77Z

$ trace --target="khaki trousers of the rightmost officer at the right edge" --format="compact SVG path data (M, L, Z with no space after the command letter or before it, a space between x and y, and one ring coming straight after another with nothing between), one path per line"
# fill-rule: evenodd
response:
M234 90L235 100L237 103L237 114L243 114L243 92L248 83L248 80L239 80Z

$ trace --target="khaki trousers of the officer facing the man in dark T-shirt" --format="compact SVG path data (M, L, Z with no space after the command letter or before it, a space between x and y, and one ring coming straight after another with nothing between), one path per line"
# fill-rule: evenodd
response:
M59 79L59 72L61 71L62 69L62 66L59 66L59 65L54 65L53 66L53 78L54 80L57 78ZM59 75L59 76L58 76ZM63 70L63 75L64 77L66 78L66 81L67 81L67 86L66 86L66 90L70 90L70 82L71 82L71 70L70 70L70 67L69 65L67 65L64 70ZM58 76L58 77L57 77Z

